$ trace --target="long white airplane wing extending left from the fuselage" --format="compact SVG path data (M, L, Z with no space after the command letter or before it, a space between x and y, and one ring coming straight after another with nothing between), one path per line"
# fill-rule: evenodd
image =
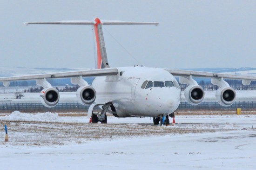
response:
M69 77L89 77L89 76L111 76L117 75L118 69L89 69L81 71L69 71L61 73L50 73L50 74L40 74L40 75L29 75L29 76L13 76L13 77L2 77L0 82L10 82L10 81L21 81L21 80L38 80L44 78L69 78Z

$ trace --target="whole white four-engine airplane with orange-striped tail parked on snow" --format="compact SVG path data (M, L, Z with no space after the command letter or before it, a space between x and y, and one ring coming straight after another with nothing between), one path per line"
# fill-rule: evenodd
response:
M235 102L236 91L223 79L240 79L243 85L255 81L255 76L229 75L200 71L178 69L160 69L148 67L120 67L110 68L105 48L102 25L159 25L155 22L122 22L101 21L61 21L61 22L27 22L31 24L64 24L64 25L93 25L97 47L96 69L41 74L30 76L15 76L0 78L4 86L9 86L10 81L36 80L37 85L44 89L40 93L40 100L46 107L58 104L59 92L51 86L47 79L71 78L73 84L79 85L76 92L78 101L82 105L89 105L88 117L93 123L107 123L106 112L115 117L153 117L155 125L161 118L173 113L181 101L181 89L174 76L179 76L181 84L187 84L184 91L186 100L192 104L200 104L204 98L204 90L192 78L210 77L211 83L219 86L216 91L216 100L222 106L230 106ZM88 85L82 77L94 76L92 86ZM100 107L101 112L94 113L95 107Z

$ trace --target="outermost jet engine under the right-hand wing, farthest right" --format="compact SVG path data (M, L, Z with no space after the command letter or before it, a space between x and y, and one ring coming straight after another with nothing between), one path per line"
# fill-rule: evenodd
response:
M230 106L236 100L236 91L230 87L222 87L216 91L216 99L222 106Z

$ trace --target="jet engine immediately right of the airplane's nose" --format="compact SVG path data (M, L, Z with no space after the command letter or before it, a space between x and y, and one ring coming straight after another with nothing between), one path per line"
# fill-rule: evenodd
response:
M198 105L202 102L204 98L204 90L201 86L198 85L190 85L184 91L184 95L186 100L191 105Z

